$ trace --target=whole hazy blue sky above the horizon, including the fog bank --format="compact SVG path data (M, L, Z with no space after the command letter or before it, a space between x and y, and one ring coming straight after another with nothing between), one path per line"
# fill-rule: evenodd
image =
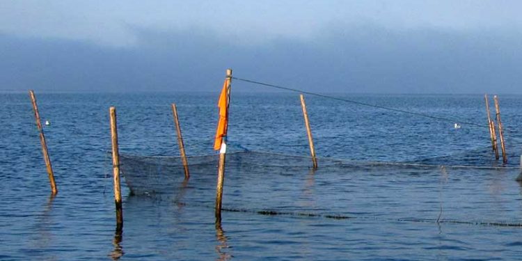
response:
M3 0L0 91L212 91L232 68L319 93L522 94L520 10L522 1Z

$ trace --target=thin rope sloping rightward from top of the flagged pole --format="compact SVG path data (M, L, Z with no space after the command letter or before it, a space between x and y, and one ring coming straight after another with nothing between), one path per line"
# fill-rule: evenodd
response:
M415 115L415 116L422 116L422 117L432 118L432 119L436 119L436 120L444 120L444 121L448 121L448 122L459 122L459 123L464 123L466 125L471 125L471 126L476 126L476 127L489 127L487 125L480 125L480 124L473 123L473 122L461 121L461 120L457 120L457 119L454 119L454 118L445 118L445 117L440 117L440 116L432 116L432 115L425 114L425 113L404 111L404 110L401 110L401 109L394 109L394 108L390 108L390 107L386 107L386 106L380 106L380 105L375 105L375 104L367 104L365 102L357 102L357 101L354 101L354 100L348 100L348 99L343 99L343 98L340 98L340 97L333 97L333 96L330 96L330 95L313 93L313 92L309 92L309 91L306 91L306 90L299 90L299 89L296 89L296 88L288 88L288 87L284 87L284 86L277 86L277 85L274 85L274 84L266 84L266 83L263 83L263 82L260 82L260 81L253 81L253 80L243 79L243 78L239 78L239 77L232 77L232 79L236 79L238 81L244 81L244 82L247 82L247 83L250 83L250 84L258 84L260 86L277 88L277 89L280 89L280 90L290 90L290 91L295 92L295 93L304 93L304 94L308 94L308 95L314 95L314 96L317 96L317 97L324 97L324 98L327 98L327 99L338 100L338 101L342 101L342 102L349 102L349 103L352 103L352 104L358 104L358 105L362 105L362 106L369 106L369 107L378 108L378 109L384 109L384 110L388 110L388 111L395 111L395 112L400 112L400 113L406 113L406 114Z

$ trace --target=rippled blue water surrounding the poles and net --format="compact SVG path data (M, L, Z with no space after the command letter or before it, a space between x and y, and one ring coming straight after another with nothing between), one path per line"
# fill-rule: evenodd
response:
M522 254L521 228L487 226L522 223L516 169L337 169L321 168L321 161L315 172L230 173L223 207L233 211L223 212L221 227L212 209L216 173L194 170L174 198L129 196L123 184L125 225L115 241L109 106L118 111L122 153L178 155L175 102L187 153L212 155L219 93L36 95L42 120L51 122L45 135L59 192L49 197L29 95L0 94L0 260L514 260ZM336 96L486 122L482 95ZM488 147L487 128L454 129L454 121L321 97L306 102L319 157L502 166ZM500 108L507 166L517 167L522 96L500 95ZM233 92L229 145L308 155L299 95ZM264 209L283 214L258 213Z

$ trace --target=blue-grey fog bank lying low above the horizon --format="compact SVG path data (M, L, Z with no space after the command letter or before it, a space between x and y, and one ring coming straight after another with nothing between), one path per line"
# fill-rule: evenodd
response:
M129 33L137 44L128 47L0 32L0 90L209 91L232 68L321 92L521 94L519 31L341 23L307 40L281 35L248 45L242 35L136 26Z

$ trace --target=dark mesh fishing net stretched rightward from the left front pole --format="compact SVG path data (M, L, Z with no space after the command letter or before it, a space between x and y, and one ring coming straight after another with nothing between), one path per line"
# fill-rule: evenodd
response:
M120 156L136 195L214 206L219 155L189 157L184 182L180 157ZM223 209L258 214L522 226L519 168L435 166L318 159L268 152L226 158Z

